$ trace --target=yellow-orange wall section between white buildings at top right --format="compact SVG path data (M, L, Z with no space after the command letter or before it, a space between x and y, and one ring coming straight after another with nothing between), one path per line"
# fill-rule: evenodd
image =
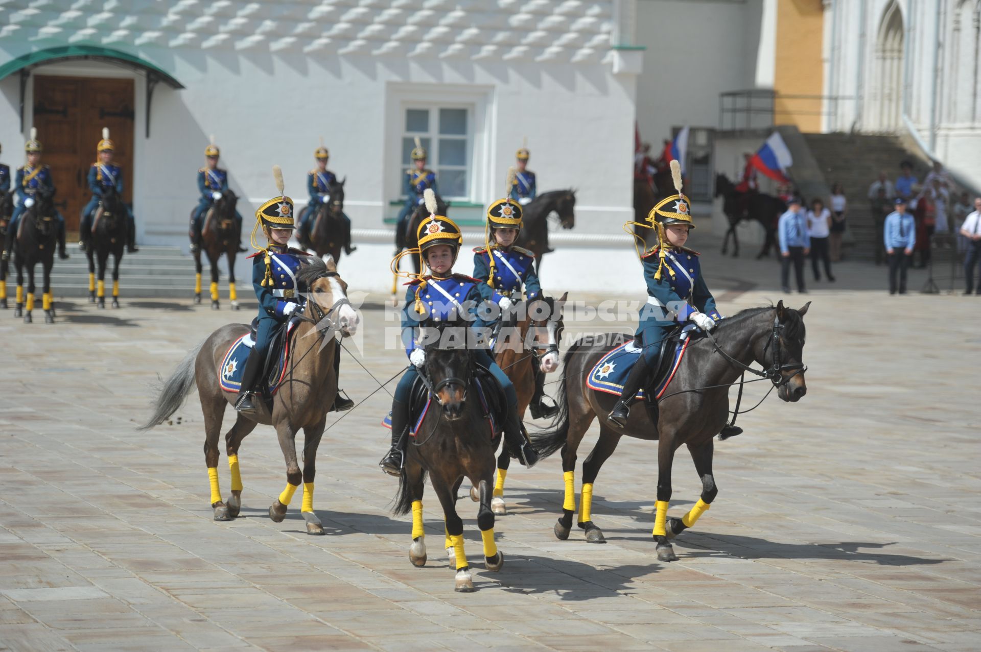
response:
M822 103L817 96L824 89L823 38L821 0L777 0L775 124L797 125L805 133L821 130Z

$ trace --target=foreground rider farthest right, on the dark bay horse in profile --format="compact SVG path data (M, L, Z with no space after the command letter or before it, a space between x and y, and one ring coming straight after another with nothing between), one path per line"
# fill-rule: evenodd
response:
M702 277L697 251L684 246L695 224L691 203L681 191L681 166L677 161L671 162L671 176L677 194L662 199L647 215L648 227L657 233L657 244L640 254L647 303L641 309L635 340L644 353L627 376L620 398L607 418L620 428L627 426L630 404L638 390L645 387L651 373L657 372L662 343L675 327L691 322L708 331L722 319ZM624 225L625 229L628 226L632 223ZM721 434L726 438L742 431L738 426L725 426Z

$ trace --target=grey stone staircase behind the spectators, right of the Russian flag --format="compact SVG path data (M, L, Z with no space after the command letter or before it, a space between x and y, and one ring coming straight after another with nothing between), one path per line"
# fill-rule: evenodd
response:
M898 136L850 133L802 135L828 187L841 183L845 188L849 201L848 229L853 237L845 255L852 260L873 260L876 233L869 210L868 186L882 171L895 181L900 175L900 162L904 159L913 164L913 174L922 180L930 170L929 163L907 151Z

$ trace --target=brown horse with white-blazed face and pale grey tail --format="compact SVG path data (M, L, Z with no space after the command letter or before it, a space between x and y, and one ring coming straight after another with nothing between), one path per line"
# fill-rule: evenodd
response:
M297 309L300 317L289 341L289 357L284 379L273 396L272 409L257 401L258 412L247 417L236 413L235 423L225 433L226 453L232 471L232 494L222 500L218 481L218 438L227 405L234 404L237 393L221 387L219 375L226 353L242 335L249 332L244 324L218 328L198 344L163 383L155 401L153 415L140 430L160 426L178 411L194 385L204 413L204 462L211 481L211 507L215 521L231 521L241 508L242 481L238 469L238 447L255 426L274 426L286 463L286 488L269 508L269 518L281 523L293 492L303 483L301 515L308 534L323 534L324 528L313 511L313 481L317 473L317 447L327 421L327 411L334 405L337 393L336 356L340 345L334 341L337 331L342 337L352 335L359 317L347 300L347 283L337 275L334 261L310 257L297 279L307 288L306 300ZM263 374L262 377L265 377ZM303 429L303 470L296 458L296 433Z

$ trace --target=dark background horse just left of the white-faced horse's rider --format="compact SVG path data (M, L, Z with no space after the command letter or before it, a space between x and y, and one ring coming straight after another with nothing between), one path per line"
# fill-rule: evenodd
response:
M201 248L194 252L194 303L201 303L201 252L211 264L211 309L219 310L218 261L225 254L229 264L229 303L238 310L238 294L235 290L235 256L241 242L241 226L235 222L235 204L238 197L232 190L223 190L204 216L201 225Z

